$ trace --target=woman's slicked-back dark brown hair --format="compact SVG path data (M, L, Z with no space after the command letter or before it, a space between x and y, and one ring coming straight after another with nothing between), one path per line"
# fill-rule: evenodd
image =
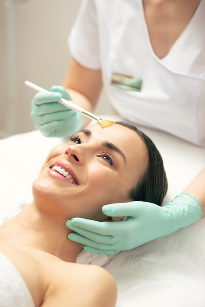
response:
M153 141L139 128L125 122L116 122L116 124L137 132L145 143L147 150L148 161L146 170L141 179L129 191L130 198L133 201L144 201L162 205L162 201L167 193L168 182L161 154Z

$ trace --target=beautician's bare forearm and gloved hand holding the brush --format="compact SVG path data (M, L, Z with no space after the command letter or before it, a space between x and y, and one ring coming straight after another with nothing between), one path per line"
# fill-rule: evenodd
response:
M34 96L30 115L35 128L48 137L74 134L87 125L89 119L58 101L61 98L71 100L92 112L101 88L101 70L88 69L72 59L63 86L53 86L51 92Z

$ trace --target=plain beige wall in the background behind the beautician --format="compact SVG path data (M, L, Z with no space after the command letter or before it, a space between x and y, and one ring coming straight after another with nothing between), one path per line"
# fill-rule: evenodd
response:
M34 129L29 114L35 92L25 80L46 89L62 83L70 60L67 36L80 4L81 0L0 0L0 137ZM102 93L95 113L112 112Z

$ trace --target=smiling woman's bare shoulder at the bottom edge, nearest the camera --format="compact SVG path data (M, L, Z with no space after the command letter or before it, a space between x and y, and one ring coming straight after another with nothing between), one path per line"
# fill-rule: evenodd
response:
M114 307L117 285L103 268L60 261L53 270L42 307Z

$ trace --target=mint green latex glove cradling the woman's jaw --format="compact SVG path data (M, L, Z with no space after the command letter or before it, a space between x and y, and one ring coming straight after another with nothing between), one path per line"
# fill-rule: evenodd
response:
M66 222L66 226L78 232L70 233L70 240L84 244L87 252L107 255L169 235L197 222L203 215L200 203L186 193L179 194L163 207L146 202L130 202L105 205L102 211L108 216L127 216L127 219L97 222L73 218Z

